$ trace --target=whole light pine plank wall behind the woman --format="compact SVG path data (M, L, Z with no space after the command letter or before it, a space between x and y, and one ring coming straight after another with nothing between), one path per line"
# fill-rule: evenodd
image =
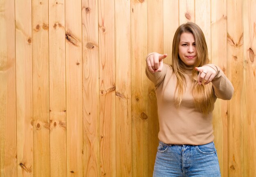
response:
M222 176L256 177L256 0L1 0L0 177L148 177L149 52L198 24L235 92L217 100Z

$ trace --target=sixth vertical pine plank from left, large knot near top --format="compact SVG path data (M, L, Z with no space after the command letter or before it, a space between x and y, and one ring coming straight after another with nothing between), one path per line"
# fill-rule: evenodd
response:
M82 0L83 176L100 176L98 1Z

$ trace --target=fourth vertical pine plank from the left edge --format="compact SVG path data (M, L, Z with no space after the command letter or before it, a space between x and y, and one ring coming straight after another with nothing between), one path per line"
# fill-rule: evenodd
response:
M51 176L67 176L65 0L49 0L49 107Z

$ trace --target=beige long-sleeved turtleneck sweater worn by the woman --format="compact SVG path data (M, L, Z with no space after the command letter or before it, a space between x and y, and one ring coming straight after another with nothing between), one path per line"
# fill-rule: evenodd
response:
M222 70L213 64L209 66L216 68L216 76L211 81L214 90L214 99L231 99L234 87L227 79ZM155 85L157 97L157 109L159 119L158 138L166 144L191 144L202 145L212 142L214 139L212 112L203 115L195 109L192 96L192 70L185 70L186 89L179 109L174 103L174 92L177 78L171 66L164 64L162 72L151 73L146 67L148 79Z

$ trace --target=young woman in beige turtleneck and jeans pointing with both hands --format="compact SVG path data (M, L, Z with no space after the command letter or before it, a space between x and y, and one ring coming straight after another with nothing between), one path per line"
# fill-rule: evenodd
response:
M194 23L177 28L171 66L163 63L166 57L146 57L159 118L153 177L220 176L212 111L217 98L231 99L234 87L218 66L208 64L204 34Z

